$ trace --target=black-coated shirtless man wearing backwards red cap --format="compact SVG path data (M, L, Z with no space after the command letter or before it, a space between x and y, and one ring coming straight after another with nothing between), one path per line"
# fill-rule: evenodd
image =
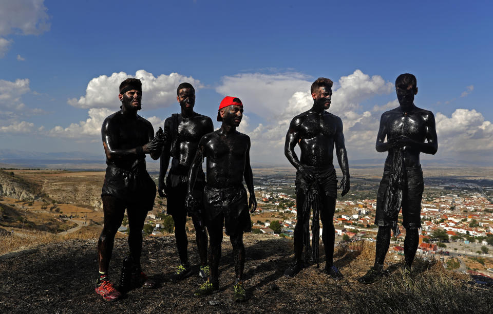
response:
M204 190L204 206L207 214L207 231L210 237L209 265L210 276L196 291L196 296L211 294L219 289L218 271L221 257L222 228L230 236L233 245L236 283L235 301L245 301L243 287L243 268L245 248L243 232L251 231L250 213L257 208L253 190L253 175L250 166L250 137L236 131L243 117L243 104L237 97L224 97L219 105L217 120L221 128L204 135L199 142L197 154L188 173L188 192L186 203L195 207L201 200L194 198L192 187L204 157L207 157L207 184ZM247 203L247 184L250 200ZM253 207L252 207L253 206Z

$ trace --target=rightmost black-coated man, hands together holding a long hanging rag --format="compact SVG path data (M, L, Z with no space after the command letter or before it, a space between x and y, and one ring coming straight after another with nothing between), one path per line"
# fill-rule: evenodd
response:
M375 263L358 279L362 283L371 283L385 274L383 268L391 231L394 236L400 234L397 216L401 208L402 224L406 228L404 270L410 273L421 228L423 171L420 154L435 154L438 150L433 113L414 105L414 95L418 94L416 77L408 73L399 75L395 91L400 106L382 114L376 137L376 151L388 151L388 155L376 200Z

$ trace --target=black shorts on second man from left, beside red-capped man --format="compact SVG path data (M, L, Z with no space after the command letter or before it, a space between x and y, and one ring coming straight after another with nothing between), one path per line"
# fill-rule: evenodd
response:
M195 181L192 195L196 200L199 200L197 211L204 213L203 204L200 202L203 198L205 186L205 175L199 172ZM174 174L170 171L166 178L166 213L168 215L186 215L185 198L188 190L188 177L185 175Z

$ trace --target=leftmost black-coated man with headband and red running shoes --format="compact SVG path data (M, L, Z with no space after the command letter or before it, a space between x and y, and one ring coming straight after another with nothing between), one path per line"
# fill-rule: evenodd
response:
M101 129L106 154L106 175L102 188L104 225L98 241L100 277L96 292L104 300L113 301L120 297L108 278L108 266L118 228L122 224L125 209L128 215L132 280L153 287L140 265L142 251L142 228L147 212L153 209L156 184L146 171L145 154L154 160L161 155L164 144L162 130L154 136L149 121L137 115L142 107L142 82L128 78L120 84L118 95L120 111L108 116Z

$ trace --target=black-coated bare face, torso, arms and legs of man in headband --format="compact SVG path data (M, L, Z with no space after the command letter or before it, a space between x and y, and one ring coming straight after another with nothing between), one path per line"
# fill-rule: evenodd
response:
M121 110L108 116L101 128L106 163L115 164L123 169L130 169L137 160L136 148L142 147L145 154L150 154L154 160L161 155L164 140L156 134L153 125L137 115L141 109L142 92L130 90L118 95L122 102ZM98 241L99 270L106 273L113 250L113 241L120 227L126 204L117 198L103 198L104 226ZM129 211L128 222L130 235L128 244L134 261L140 267L140 252L142 249L142 227L146 212Z

